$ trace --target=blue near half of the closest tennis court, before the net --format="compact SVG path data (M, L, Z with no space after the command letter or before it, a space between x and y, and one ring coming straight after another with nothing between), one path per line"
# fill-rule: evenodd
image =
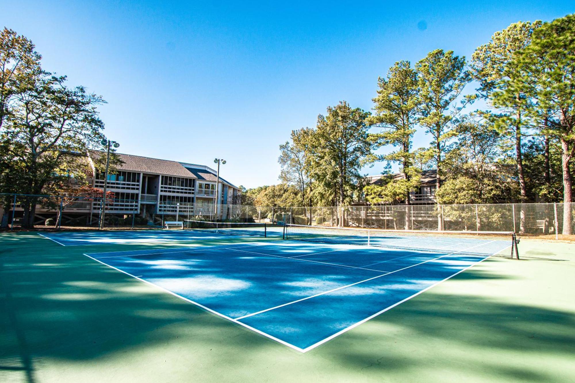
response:
M305 352L489 256L460 253L286 240L86 255Z

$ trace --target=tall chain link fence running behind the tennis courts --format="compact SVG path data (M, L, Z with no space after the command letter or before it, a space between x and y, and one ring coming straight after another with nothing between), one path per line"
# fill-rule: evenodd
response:
M164 221L277 222L371 229L505 231L555 235L575 232L575 204L377 205L272 207L175 203L120 198L0 194L2 227L35 225L98 227L163 226ZM36 202L34 211L29 211Z

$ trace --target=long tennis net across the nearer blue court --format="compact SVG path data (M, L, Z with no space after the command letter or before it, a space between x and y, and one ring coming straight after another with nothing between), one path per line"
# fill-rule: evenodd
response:
M519 259L513 232L355 229L286 224L283 238Z

